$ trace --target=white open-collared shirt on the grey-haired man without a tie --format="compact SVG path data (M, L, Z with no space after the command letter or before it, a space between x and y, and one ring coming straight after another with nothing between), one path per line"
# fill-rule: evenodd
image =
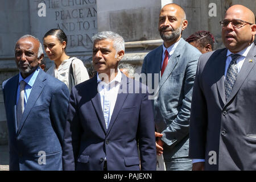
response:
M101 78L97 73L97 81L98 81L98 93L100 93L101 97L101 107L104 114L104 119L106 123L106 129L108 130L109 122L112 117L112 113L115 107L115 101L117 101L117 94L120 87L120 83L122 80L121 71L118 69L117 76L110 81L108 84L106 82L101 81Z

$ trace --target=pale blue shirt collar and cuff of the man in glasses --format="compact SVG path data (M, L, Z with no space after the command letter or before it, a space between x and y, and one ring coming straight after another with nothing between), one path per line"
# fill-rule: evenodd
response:
M240 72L240 70L242 68L242 65L243 65L243 62L245 61L245 58L246 58L246 56L247 56L247 54L250 51L252 46L253 46L253 43L250 44L250 46L243 49L242 51L237 52L237 54L241 55L237 59L238 73ZM226 72L228 71L229 64L232 61L232 57L230 55L232 55L232 52L230 52L229 49L228 49L228 52L226 53L227 58L226 58L226 65L225 65L225 77L226 77ZM205 162L205 160L204 159L192 159L192 163L198 163L198 162Z

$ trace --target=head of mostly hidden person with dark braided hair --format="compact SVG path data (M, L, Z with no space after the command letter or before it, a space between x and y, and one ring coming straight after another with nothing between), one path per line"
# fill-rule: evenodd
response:
M186 41L199 49L201 53L213 51L214 38L208 31L198 31L189 36Z

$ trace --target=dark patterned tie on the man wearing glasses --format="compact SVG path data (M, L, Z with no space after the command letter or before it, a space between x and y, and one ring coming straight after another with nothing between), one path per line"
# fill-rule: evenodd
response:
M238 54L232 54L230 55L232 57L232 61L229 64L228 71L226 72L226 79L224 82L225 85L225 95L226 100L228 100L230 93L232 92L232 88L234 86L234 83L236 82L237 78L237 59L240 57Z

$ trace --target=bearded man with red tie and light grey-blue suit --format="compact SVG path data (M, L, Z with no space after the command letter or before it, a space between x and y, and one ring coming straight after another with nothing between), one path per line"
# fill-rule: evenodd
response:
M142 73L152 74L147 85L152 84L158 92L154 100L156 152L163 154L167 170L192 169L188 159L189 117L201 53L181 38L187 24L182 7L174 3L164 6L159 15L164 43L148 53L142 65ZM154 73L159 75L159 85L154 85Z

